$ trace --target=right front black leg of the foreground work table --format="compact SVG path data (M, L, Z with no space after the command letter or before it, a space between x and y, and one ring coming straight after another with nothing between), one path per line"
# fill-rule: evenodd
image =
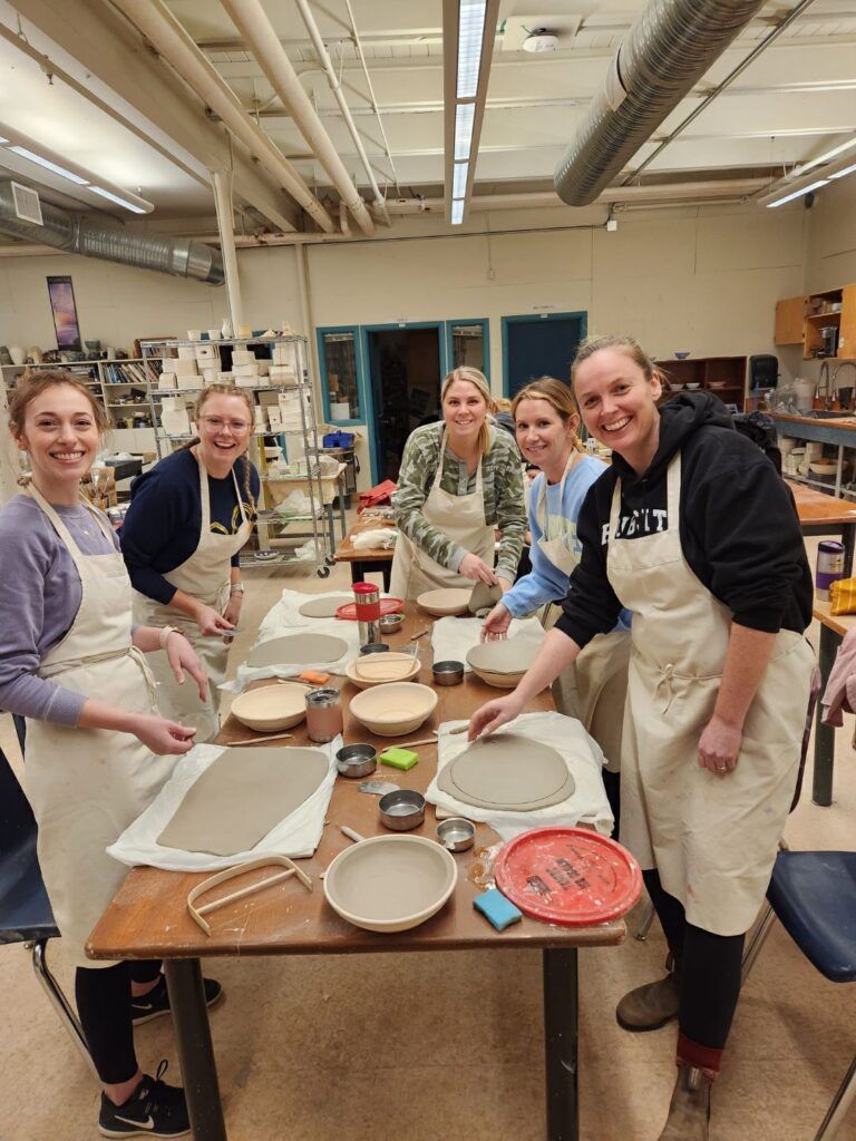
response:
M547 1050L547 1141L580 1135L576 947L546 947L543 956Z

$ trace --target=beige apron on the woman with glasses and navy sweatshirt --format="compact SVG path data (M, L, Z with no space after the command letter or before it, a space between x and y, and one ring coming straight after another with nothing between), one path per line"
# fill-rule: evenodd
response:
M211 496L208 487L208 472L196 456L199 464L200 500L202 504L202 527L199 545L188 559L168 570L163 577L177 590L183 590L207 606L212 606L223 614L229 600L232 556L244 545L250 537L252 524L248 520L243 500L235 478L232 479L237 495L237 507L241 512L241 526L234 535L221 535L211 531ZM159 650L150 655L152 672L158 681L158 707L163 717L171 721L196 728L196 744L212 741L220 728L219 707L220 691L217 688L226 680L226 663L228 644L223 634L203 636L193 618L173 610L169 606L155 602L145 594L134 593L134 621L140 625L176 626L186 636L202 662L208 674L208 701L201 702L196 682L185 674L184 685L179 686L169 664L165 652Z

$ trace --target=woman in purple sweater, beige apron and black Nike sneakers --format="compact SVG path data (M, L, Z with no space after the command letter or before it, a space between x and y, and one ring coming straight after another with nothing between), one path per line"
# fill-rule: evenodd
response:
M76 966L83 1033L104 1085L107 1136L179 1136L184 1091L144 1075L134 1025L169 1009L160 963L95 963L84 942L127 868L105 848L151 803L193 729L156 712L144 654L165 649L204 698L208 680L169 626L131 626L131 585L113 531L81 496L105 426L89 390L62 371L22 381L9 428L29 454L23 494L0 510L0 707L27 719L25 782L39 863ZM220 993L207 984L212 1001Z

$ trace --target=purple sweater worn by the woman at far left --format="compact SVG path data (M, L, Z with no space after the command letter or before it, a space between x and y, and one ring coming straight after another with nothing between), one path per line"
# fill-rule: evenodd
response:
M84 555L115 549L100 528L90 524L82 529L79 507L57 511ZM40 678L38 670L74 622L80 576L47 516L27 495L16 495L0 510L0 709L76 725L86 697Z

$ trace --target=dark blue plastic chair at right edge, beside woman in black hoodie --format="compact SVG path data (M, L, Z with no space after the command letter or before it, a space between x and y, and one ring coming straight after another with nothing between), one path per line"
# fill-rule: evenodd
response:
M808 961L832 982L856 980L856 852L780 851L767 890L769 908L743 961L745 979L778 919ZM832 1141L856 1098L856 1058L814 1141Z

